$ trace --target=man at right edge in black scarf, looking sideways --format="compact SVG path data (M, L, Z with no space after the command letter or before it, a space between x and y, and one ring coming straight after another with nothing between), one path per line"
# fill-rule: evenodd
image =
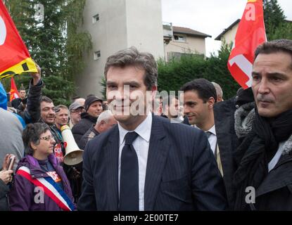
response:
M234 113L235 209L292 210L292 40L258 46L252 77L255 102Z

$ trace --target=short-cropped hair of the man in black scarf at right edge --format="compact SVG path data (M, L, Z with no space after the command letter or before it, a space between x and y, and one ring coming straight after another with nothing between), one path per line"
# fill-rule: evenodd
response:
M257 58L259 54L278 52L288 53L291 56L290 68L292 69L292 40L289 39L277 39L264 42L255 50L255 58Z

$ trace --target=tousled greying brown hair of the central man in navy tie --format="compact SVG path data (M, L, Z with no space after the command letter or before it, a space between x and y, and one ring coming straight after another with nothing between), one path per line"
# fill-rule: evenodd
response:
M106 60L104 75L107 76L111 67L125 68L129 65L136 66L145 70L144 84L147 90L151 90L152 86L157 85L157 65L151 53L139 52L134 46L118 51Z

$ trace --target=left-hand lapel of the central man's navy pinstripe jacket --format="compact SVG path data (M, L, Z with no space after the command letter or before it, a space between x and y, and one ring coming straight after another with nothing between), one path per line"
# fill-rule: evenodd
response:
M118 159L119 159L119 129L115 126L113 133L108 139L108 144L105 147L106 153L106 190L108 207L107 210L118 210Z

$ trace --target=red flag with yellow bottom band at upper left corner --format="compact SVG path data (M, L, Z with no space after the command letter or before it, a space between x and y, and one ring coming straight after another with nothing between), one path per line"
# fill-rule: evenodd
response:
M0 1L0 79L37 72L4 3Z

